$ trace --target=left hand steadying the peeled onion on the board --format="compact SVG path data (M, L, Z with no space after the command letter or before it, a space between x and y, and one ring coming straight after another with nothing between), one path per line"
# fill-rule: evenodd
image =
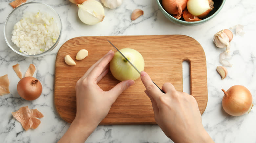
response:
M87 124L84 125L85 127L90 124L96 128L100 121L107 116L111 105L116 101L117 97L134 84L133 80L122 81L109 91L103 91L97 85L108 73L109 62L113 56L114 52L110 50L76 82L75 120Z

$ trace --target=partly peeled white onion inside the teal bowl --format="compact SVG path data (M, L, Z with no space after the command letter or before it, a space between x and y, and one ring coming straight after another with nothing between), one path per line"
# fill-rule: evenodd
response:
M213 9L212 0L187 0L187 10L198 18L204 18Z

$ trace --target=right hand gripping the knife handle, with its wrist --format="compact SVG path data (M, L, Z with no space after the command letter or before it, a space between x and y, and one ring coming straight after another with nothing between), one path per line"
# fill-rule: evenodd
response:
M165 135L175 143L213 142L205 131L195 98L177 91L170 83L162 86L162 93L149 75L141 71L141 81L150 98L155 120Z

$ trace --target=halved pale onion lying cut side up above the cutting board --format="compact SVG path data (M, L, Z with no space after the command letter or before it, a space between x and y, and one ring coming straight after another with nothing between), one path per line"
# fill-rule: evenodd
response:
M79 8L78 17L85 24L97 24L105 17L103 6L96 0L86 0L77 6Z

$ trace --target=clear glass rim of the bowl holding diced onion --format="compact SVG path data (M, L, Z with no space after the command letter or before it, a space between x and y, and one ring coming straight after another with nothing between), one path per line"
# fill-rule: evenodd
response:
M17 10L17 9L19 9L19 8L22 8L22 7L24 7L24 6L26 6L26 5L29 5L29 4L41 4L41 5L45 5L45 6L49 7L50 9L52 9L52 10L58 15L58 17L59 17L59 19L60 19L60 33L59 33L58 39L56 40L56 42L53 44L53 46L52 46L50 49L48 49L47 51L45 51L45 52L43 52L43 53L37 54L37 55L26 55L26 54L23 54L23 53L21 53L21 52L16 51L14 48L12 48L11 44L10 44L10 43L8 42L8 40L6 39L6 31L5 31L6 29L5 29L5 26L6 26L6 23L7 23L8 19L9 19L9 17L11 16L11 14L12 14L15 10ZM51 52L51 51L57 46L57 44L59 43L59 40L60 40L60 37L61 37L61 33L62 33L62 22L61 22L61 18L60 18L60 16L59 16L58 12L57 12L55 9L53 9L51 6L49 6L49 5L45 4L45 3L41 3L41 2L28 2L28 3L24 3L24 4L20 5L20 6L17 7L17 8L14 8L14 9L11 11L11 13L8 15L8 17L7 17L6 21L5 21L5 24L4 24L4 38L5 38L6 44L9 46L9 48L11 48L11 50L12 50L13 52L15 52L15 53L17 53L17 54L19 54L19 55L21 55L21 56L25 56L25 57L39 57L39 56L44 56L44 55L46 55L46 54L49 54L49 52Z

